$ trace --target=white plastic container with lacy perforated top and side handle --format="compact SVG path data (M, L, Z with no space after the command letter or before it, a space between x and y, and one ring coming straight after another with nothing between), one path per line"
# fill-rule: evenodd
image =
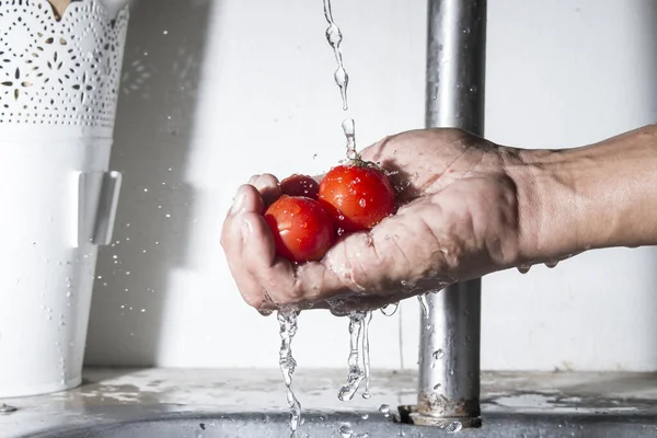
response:
M107 172L127 5L0 1L0 399L78 385L97 247L120 174Z

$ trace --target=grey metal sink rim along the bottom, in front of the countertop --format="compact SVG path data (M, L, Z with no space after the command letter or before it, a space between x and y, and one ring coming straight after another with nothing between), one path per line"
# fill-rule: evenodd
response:
M116 414L116 413L114 413ZM402 425L382 414L307 413L298 437L610 437L657 436L654 415L629 414L489 414L480 429L458 434L423 426ZM458 429L458 427L453 427ZM351 433L353 435L349 435ZM30 438L280 438L289 437L288 416L279 414L169 413L150 418L106 420L92 426L61 428Z

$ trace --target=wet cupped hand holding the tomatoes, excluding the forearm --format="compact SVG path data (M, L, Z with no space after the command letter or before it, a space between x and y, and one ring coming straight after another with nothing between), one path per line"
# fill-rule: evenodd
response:
M263 217L280 196L278 180L254 176L239 188L223 223L231 274L244 300L262 312L344 313L515 266L521 230L516 183L506 171L512 155L457 129L403 132L366 148L364 160L392 173L396 214L301 265L276 255Z

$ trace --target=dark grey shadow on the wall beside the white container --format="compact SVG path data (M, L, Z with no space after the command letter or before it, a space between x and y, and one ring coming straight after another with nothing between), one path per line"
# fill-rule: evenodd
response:
M157 359L168 274L184 264L193 227L195 194L184 175L208 16L218 7L218 0L131 5L111 164L124 185L114 242L99 255L87 365Z

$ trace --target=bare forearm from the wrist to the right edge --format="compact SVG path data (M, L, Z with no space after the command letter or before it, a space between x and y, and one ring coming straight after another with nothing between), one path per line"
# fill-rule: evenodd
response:
M511 155L521 261L657 244L657 125L588 147Z

